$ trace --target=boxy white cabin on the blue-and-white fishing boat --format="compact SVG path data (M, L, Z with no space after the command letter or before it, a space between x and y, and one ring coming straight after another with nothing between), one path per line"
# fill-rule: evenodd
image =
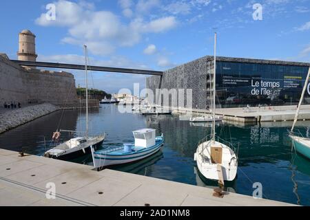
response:
M147 148L155 145L155 129L141 129L132 133L134 133L134 146Z

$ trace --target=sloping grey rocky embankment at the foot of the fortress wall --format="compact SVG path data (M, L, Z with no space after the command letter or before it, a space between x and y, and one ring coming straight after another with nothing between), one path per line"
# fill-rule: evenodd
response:
M60 107L56 107L53 104L37 104L22 109L6 111L0 114L0 133L60 109Z

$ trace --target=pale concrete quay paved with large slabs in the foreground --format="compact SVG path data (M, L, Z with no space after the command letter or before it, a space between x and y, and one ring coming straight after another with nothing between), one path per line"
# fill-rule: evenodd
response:
M48 183L56 199L46 199ZM0 206L294 206L0 149Z

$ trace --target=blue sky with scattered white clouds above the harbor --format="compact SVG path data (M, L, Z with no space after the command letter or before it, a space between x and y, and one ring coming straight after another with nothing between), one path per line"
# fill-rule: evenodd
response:
M213 55L216 31L218 56L310 62L310 0L2 0L0 4L0 52L11 59L17 59L18 33L28 29L37 36L37 61L83 64L87 45L90 65L167 70ZM83 72L70 72L76 86L85 86ZM118 93L140 83L143 89L145 77L91 72L90 87Z

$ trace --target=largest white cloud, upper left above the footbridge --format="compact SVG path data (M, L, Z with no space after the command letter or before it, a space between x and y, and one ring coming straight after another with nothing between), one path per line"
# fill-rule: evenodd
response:
M123 14L132 17L132 1L118 1L124 8ZM139 1L140 10L149 10L159 1ZM93 5L86 3L74 3L59 0L56 5L56 21L48 21L45 14L36 19L36 23L42 26L60 26L68 28L69 36L62 42L72 45L89 45L90 52L96 55L112 54L117 47L129 47L141 40L141 35L147 33L165 32L175 28L175 17L159 17L145 21L139 17L129 23L123 23L114 13L109 11L96 11Z

